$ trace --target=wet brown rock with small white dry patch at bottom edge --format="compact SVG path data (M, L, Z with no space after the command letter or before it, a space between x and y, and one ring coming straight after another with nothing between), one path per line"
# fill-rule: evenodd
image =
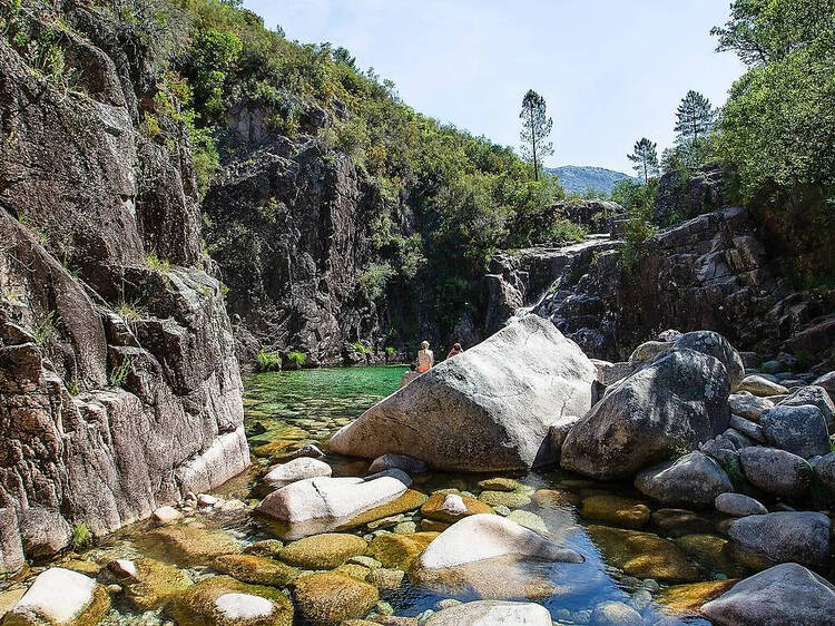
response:
M278 589L228 576L206 578L165 607L177 626L291 626L293 604Z

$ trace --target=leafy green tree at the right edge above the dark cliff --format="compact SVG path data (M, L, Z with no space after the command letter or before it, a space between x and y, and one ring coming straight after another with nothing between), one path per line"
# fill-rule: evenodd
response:
M750 67L715 138L733 199L755 209L789 277L832 275L835 0L737 0L714 33Z

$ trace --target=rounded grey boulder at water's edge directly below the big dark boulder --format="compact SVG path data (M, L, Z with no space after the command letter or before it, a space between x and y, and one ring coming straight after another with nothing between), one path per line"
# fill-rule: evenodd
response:
M635 487L661 502L697 505L710 505L719 493L734 490L719 463L699 451L641 471L635 477Z

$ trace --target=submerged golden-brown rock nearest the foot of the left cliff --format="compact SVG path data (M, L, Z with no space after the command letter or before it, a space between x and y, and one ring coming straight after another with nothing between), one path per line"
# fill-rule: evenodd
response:
M176 565L208 565L222 555L238 552L238 545L222 530L193 526L157 528L141 538L150 554Z

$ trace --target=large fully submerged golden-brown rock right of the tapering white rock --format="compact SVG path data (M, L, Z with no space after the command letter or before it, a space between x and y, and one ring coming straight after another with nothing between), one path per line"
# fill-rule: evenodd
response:
M606 561L629 576L688 583L699 578L699 570L669 539L608 526L592 525L587 531Z

